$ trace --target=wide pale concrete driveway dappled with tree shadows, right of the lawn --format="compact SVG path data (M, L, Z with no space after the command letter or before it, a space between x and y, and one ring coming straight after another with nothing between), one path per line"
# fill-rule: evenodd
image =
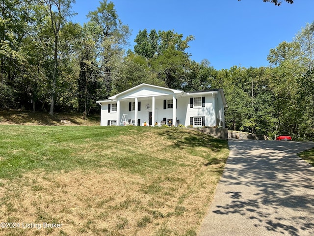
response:
M230 155L198 236L314 235L314 143L229 140Z

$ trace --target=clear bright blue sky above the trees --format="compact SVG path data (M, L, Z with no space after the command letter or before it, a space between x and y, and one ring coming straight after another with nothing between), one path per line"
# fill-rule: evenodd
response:
M107 2L109 2L108 0ZM133 50L139 30L174 30L189 43L191 59L208 59L215 69L267 66L267 55L314 21L314 0L275 6L262 0L112 0L122 23L131 29ZM99 0L76 0L72 20L83 24Z

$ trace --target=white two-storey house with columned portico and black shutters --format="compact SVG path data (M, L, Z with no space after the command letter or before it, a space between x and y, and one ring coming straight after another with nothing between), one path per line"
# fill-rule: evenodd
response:
M101 125L225 126L222 89L184 92L141 84L105 100Z

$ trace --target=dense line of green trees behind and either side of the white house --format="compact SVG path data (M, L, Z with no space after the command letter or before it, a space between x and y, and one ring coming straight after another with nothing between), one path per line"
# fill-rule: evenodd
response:
M226 127L273 138L314 138L314 23L270 49L268 67L216 70L190 59L192 35L130 29L103 0L82 26L74 0L0 2L0 109L99 113L95 103L148 83L171 89L222 88Z

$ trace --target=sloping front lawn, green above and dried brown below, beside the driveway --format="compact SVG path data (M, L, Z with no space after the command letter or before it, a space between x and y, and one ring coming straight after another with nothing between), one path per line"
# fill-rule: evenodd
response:
M184 128L0 125L0 134L1 220L20 223L0 235L196 236L229 154L227 141Z

